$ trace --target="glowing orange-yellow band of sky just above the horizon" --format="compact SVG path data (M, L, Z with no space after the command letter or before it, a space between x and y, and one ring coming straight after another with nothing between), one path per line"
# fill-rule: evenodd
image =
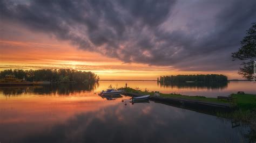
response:
M56 42L53 40L53 42ZM42 44L0 40L1 67L4 69L60 69L92 71L101 80L156 80L159 76L178 74L225 74L239 78L237 71L180 71L172 67L123 63L93 52L83 51L66 42Z

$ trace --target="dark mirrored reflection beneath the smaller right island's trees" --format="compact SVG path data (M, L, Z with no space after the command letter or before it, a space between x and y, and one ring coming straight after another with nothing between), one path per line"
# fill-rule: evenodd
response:
M190 89L225 89L227 82L178 82L178 83L158 83L164 88L190 88Z

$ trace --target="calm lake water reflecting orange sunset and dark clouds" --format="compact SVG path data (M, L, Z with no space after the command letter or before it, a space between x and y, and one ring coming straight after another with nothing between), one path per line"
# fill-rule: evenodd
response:
M108 101L97 93L125 82L96 85L0 87L0 142L247 142L250 127L232 120L160 103ZM256 94L252 82L224 87L160 86L127 82L129 87L186 95L216 96L237 91ZM244 88L242 87L244 86ZM124 100L124 102L122 102ZM234 124L234 123L233 123Z

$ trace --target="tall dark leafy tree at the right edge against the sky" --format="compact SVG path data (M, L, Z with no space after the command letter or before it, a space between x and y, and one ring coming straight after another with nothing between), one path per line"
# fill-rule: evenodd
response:
M242 77L252 80L253 78L253 64L256 60L256 23L252 24L247 30L246 36L241 41L241 47L237 52L232 53L234 60L242 60L242 67L240 67L238 73Z

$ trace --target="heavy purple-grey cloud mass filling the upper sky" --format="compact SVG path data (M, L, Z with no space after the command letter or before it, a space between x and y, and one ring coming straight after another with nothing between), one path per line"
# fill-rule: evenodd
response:
M0 1L0 18L124 62L183 70L231 61L256 20L249 1Z

